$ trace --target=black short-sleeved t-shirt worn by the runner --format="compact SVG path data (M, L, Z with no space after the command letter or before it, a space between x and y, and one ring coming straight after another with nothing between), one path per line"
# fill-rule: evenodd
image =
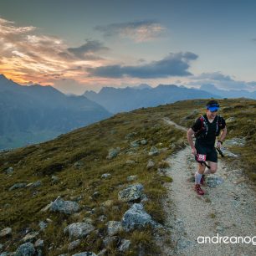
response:
M207 119L207 115L203 115L205 120L207 121L207 136L204 138L197 138L197 143L202 144L202 146L214 146L215 144L215 139L216 139L216 129L217 129L217 120L219 123L219 129L224 129L226 126L226 122L223 119L223 117L220 117L218 115L215 116L214 120L212 123L209 122ZM200 120L200 117L197 118L196 122L192 125L192 130L197 132L200 131L202 128L202 121Z

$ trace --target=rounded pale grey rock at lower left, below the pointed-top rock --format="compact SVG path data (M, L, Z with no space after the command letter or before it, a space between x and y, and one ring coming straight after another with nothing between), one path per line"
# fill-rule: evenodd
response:
M69 238L85 238L95 227L89 223L72 223L64 228L64 233L69 233Z

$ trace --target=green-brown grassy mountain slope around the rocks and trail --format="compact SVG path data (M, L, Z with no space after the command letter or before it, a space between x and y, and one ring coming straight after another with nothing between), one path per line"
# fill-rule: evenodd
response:
M64 236L63 229L69 223L81 221L84 217L93 219L93 223L99 233L91 233L82 240L81 246L74 252L82 250L99 253L103 248L103 238L106 236L105 223L110 220L120 221L124 212L129 208L125 202L118 201L118 192L131 183L141 182L146 196L150 199L146 202L146 211L149 212L157 222L163 223L164 212L161 208L161 198L165 196L164 182L169 181L166 177L156 172L157 167L164 166L162 160L181 148L186 141L185 133L177 131L172 126L167 126L161 121L161 116L167 116L181 125L189 127L198 114L192 114L193 110L204 113L203 105L207 100L180 101L172 105L161 105L156 108L134 110L129 113L120 113L107 120L102 120L94 125L89 125L59 136L53 141L48 141L35 146L27 146L15 151L0 155L0 228L13 228L13 239L10 241L9 251L18 247L19 239L22 238L23 230L30 228L38 230L38 222L51 218L53 224L40 234L47 247L54 243L54 249L47 253L59 255L65 252L69 243L68 237ZM236 121L228 124L228 137L246 136L247 144L243 148L233 148L233 151L241 154L239 160L233 161L235 165L241 164L245 168L248 177L256 180L254 171L255 158L255 100L219 100L222 105L224 118L234 116ZM187 117L187 118L184 118ZM131 132L136 135L131 140L125 136ZM136 155L128 155L126 151L131 149L130 141L146 139L148 144L140 146ZM161 145L159 145L161 143ZM171 146L175 144L175 147ZM108 150L119 146L120 155L112 160L107 160ZM159 156L148 156L151 146L168 147ZM156 166L146 170L149 159L156 162ZM125 161L134 160L136 165L127 165ZM241 161L240 161L241 160ZM82 168L74 166L76 161L83 163ZM4 170L13 166L12 176L5 174ZM110 179L101 179L103 173L110 172ZM51 183L51 176L59 177L60 182ZM137 175L136 182L127 182L130 175ZM37 189L21 188L8 191L8 188L17 182L42 181L42 187ZM94 192L100 192L100 196L92 199ZM56 197L62 196L65 200L82 196L79 201L84 210L79 215L65 216L54 212L40 212ZM100 208L100 203L112 199L111 207L106 210ZM9 206L7 204L10 204ZM95 213L90 214L88 210L95 208ZM105 214L106 220L101 223L98 218ZM150 228L144 231L133 231L130 233L119 233L120 238L131 239L131 252L126 255L137 255L138 249L144 245L148 254L159 251L153 241L153 233ZM0 241L0 243L3 241ZM57 250L56 248L63 248ZM110 255L118 255L115 246L108 248Z

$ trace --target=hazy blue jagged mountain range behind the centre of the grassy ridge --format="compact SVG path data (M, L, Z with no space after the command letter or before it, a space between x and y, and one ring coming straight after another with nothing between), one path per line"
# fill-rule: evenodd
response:
M177 100L222 98L218 94L178 87L173 84L160 84L156 88L146 87L141 90L132 87L126 87L125 89L104 87L99 93L86 91L84 96L104 106L106 110L112 113L135 110L141 107L164 105Z

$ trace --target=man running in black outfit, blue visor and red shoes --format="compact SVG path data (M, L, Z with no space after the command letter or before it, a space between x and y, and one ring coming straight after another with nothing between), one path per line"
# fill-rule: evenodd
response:
M206 115L201 115L187 131L187 141L192 148L192 154L198 161L198 169L195 174L195 191L198 195L204 192L200 187L204 182L204 174L215 173L218 167L218 154L215 149L216 136L220 137L217 143L220 149L225 136L227 135L226 122L222 116L218 115L219 105L216 100L210 100L206 106ZM192 135L196 137L194 145ZM210 169L206 170L206 163Z

